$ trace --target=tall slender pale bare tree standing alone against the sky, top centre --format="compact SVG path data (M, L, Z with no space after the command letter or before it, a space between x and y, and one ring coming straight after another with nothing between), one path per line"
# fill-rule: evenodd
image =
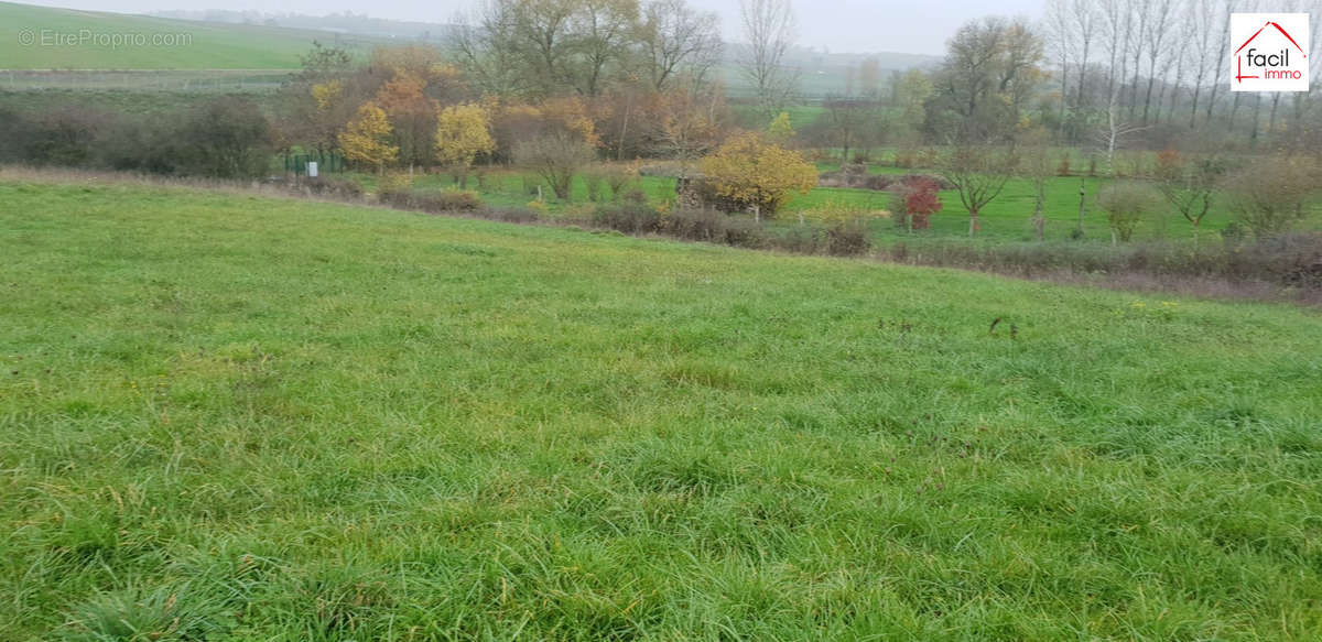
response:
M776 108L793 90L796 78L784 67L795 41L795 11L789 0L739 0L747 52L740 70L765 108Z

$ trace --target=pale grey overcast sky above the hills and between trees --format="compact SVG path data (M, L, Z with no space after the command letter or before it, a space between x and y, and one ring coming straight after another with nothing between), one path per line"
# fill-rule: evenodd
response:
M352 11L371 17L448 22L471 0L19 0L74 9L147 13L230 9L327 15ZM739 0L690 0L720 15L726 40L738 41ZM1043 0L793 0L798 44L832 52L940 54L961 22L988 13L1038 18Z

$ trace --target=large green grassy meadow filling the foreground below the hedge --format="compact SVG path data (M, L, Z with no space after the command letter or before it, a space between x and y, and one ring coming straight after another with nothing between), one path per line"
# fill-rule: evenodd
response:
M1315 312L4 177L0 256L0 639L1322 635Z

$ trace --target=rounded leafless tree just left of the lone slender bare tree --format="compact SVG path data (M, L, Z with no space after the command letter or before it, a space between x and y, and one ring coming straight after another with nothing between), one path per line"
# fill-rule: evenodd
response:
M685 0L654 0L640 25L644 62L652 89L665 91L676 75L706 78L720 58L720 18Z

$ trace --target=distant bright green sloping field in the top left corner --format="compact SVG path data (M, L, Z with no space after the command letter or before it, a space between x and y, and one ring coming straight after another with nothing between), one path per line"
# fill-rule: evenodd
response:
M0 3L0 69L297 69L315 38L334 34Z

